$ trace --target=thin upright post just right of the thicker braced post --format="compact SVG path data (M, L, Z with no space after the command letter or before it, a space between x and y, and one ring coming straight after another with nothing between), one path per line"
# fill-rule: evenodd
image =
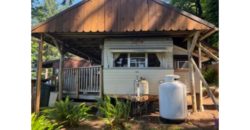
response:
M200 48L201 43L199 42L199 47L198 47L198 55L199 55L199 69L202 71L202 61L201 61L201 48ZM202 80L200 79L199 83L200 87L200 94L199 94L199 110L204 111L203 108L203 91L202 91Z

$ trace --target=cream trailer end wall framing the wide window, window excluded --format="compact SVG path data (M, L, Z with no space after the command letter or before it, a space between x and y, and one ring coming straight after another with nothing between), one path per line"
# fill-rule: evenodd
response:
M130 52L161 51L164 65L158 68L114 68L112 51ZM173 74L173 41L169 38L106 39L104 41L104 94L135 94L134 82L137 76L149 82L149 94L158 95L160 80Z

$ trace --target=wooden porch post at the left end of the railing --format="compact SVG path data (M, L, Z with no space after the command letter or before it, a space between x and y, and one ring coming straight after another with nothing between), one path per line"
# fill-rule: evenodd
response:
M61 100L62 95L63 95L63 82L64 82L64 74L63 74L64 73L64 70L63 70L63 68L64 68L64 52L63 52L63 47L61 46L59 50L60 50L61 57L60 57L59 75L58 75L58 77L59 77L58 98L59 98L59 100Z

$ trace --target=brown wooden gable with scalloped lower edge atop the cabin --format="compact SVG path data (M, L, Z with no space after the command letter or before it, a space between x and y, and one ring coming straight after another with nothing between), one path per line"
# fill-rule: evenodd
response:
M83 0L32 33L208 31L216 28L161 0Z

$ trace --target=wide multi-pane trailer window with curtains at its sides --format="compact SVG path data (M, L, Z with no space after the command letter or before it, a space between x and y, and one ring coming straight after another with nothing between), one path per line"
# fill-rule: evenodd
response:
M160 67L160 59L157 53L113 53L114 67L146 68Z

